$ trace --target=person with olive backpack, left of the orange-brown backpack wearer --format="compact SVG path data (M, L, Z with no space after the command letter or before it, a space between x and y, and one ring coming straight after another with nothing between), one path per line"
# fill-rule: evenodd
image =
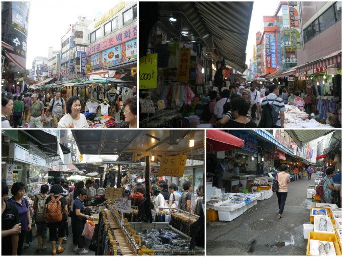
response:
M45 212L45 202L48 199L49 186L42 185L40 187L40 194L37 194L34 198L33 203L33 220L36 223L37 228L37 240L38 240L38 248L36 252L39 250L47 249L45 245L45 239L47 238L47 223L44 222L44 212Z

